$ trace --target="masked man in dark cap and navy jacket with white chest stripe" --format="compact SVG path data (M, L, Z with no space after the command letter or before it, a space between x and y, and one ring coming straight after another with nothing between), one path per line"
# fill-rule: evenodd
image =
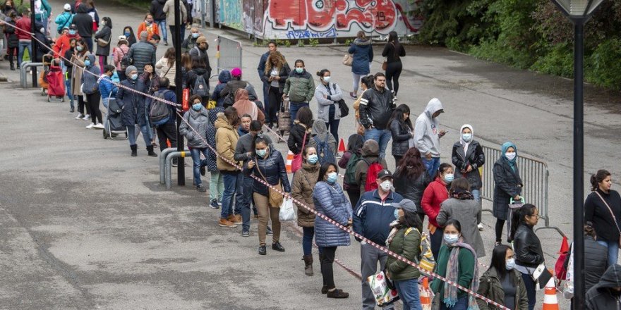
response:
M378 173L378 179L375 182L378 183L378 189L362 194L354 208L354 231L383 247L390 233L390 223L394 221L393 204L401 202L403 197L392 192L392 173L387 169ZM388 254L367 244L364 240L358 241L361 242L362 309L375 309L375 297L366 278L378 273L378 263L379 270L384 270ZM383 309L394 308L391 304Z

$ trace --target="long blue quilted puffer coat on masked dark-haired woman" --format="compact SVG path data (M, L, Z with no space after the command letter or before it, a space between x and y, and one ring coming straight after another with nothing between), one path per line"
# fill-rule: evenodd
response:
M341 225L347 225L352 218L351 204L339 183L330 185L317 182L313 190L315 210L332 218ZM349 234L317 216L315 218L315 243L318 247L343 247L351 244Z

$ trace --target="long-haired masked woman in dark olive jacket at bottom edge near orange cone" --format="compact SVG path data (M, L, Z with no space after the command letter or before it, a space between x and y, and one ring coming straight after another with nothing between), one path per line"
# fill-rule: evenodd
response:
M528 310L529 297L526 295L524 280L514 267L513 250L504 244L494 247L490 267L478 281L478 294L504 304L510 310ZM497 306L483 299L477 299L476 302L481 310L498 310Z

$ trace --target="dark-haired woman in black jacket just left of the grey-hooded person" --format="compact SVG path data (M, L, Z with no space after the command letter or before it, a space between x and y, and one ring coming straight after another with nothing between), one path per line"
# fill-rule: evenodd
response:
M414 126L410 120L410 108L407 104L400 104L394 109L388 128L392 134L392 156L394 164L399 165L405 152L414 147Z

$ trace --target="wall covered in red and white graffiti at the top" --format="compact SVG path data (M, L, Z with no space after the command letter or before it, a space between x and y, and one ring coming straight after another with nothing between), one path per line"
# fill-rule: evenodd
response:
M422 0L217 0L216 20L260 39L416 34Z

